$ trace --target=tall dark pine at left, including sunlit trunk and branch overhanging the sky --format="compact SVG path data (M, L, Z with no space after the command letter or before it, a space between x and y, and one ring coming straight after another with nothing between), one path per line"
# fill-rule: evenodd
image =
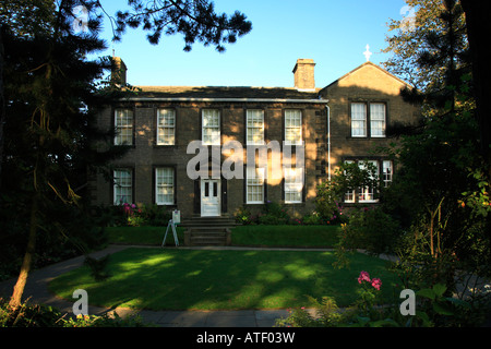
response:
M166 34L185 35L187 49L197 39L223 51L223 44L233 43L237 35L251 28L242 14L237 12L231 19L216 15L213 3L206 1L153 3L154 8L145 10L141 1L129 0L142 13L118 15L118 37L127 23L134 27L143 21L144 29L155 31L148 37L151 43L157 43L167 28ZM101 152L95 147L94 141L109 141L113 133L99 133L93 122L98 108L121 97L125 89L110 81L99 83L111 68L110 59L86 59L105 48L97 36L103 16L97 11L104 12L99 1L1 0L1 4L0 161L4 180L0 183L0 231L20 232L27 241L10 301L15 309L33 264L38 233L46 233L41 241L50 241L53 230L70 238L73 230L84 230L88 219L77 190L86 184L84 173L125 151L109 146ZM74 26L77 7L88 14L82 31ZM164 20L169 22L164 24Z

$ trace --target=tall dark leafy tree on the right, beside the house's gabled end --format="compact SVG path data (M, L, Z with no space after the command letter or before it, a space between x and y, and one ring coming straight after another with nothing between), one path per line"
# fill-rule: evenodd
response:
M426 112L418 130L400 133L398 147L392 149L402 170L384 205L405 218L410 232L406 257L424 266L418 273L427 272L426 280L440 277L448 289L457 260L460 267L489 265L489 200L486 207L480 204L484 210L479 214L469 204L484 182L478 176L483 158L463 17L458 1L442 1L438 17L442 25L426 32L424 49L414 58L416 69L438 74L429 75L432 81L423 91L403 92L408 100L422 103Z

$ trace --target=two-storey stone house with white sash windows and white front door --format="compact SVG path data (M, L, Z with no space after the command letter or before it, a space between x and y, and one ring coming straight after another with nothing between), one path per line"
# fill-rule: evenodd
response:
M115 79L125 83L124 63L115 62ZM314 67L299 59L294 87L284 88L136 86L137 93L115 100L98 118L99 128L116 128L116 145L131 148L113 161L112 181L93 178L94 204L156 204L179 209L185 219L276 202L304 215L314 209L316 185L340 161L363 166L367 159L388 184L394 166L371 149L390 142L385 130L392 122L416 120L418 110L399 96L406 83L366 62L318 88ZM203 166L199 157L209 161ZM292 165L286 167L288 159ZM360 189L345 201L370 204L373 194Z

